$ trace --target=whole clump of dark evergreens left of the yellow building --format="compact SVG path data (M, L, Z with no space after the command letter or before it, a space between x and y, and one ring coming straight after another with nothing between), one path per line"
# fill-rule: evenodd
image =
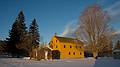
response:
M12 57L30 56L32 49L39 46L39 42L40 35L36 19L33 19L27 29L24 13L20 11L9 31L9 37L6 38L4 50Z

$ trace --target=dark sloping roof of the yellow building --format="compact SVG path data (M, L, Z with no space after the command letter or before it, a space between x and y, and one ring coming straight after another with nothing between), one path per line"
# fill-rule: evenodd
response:
M59 37L59 36L55 36L55 38L57 38L60 42L64 42L64 43L83 44L82 41L75 38Z

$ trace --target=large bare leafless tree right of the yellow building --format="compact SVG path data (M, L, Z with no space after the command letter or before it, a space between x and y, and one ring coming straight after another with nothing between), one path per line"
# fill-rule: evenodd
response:
M91 45L94 56L97 56L98 52L111 43L109 18L109 15L98 5L86 8L80 16L80 26L76 30L76 34Z

